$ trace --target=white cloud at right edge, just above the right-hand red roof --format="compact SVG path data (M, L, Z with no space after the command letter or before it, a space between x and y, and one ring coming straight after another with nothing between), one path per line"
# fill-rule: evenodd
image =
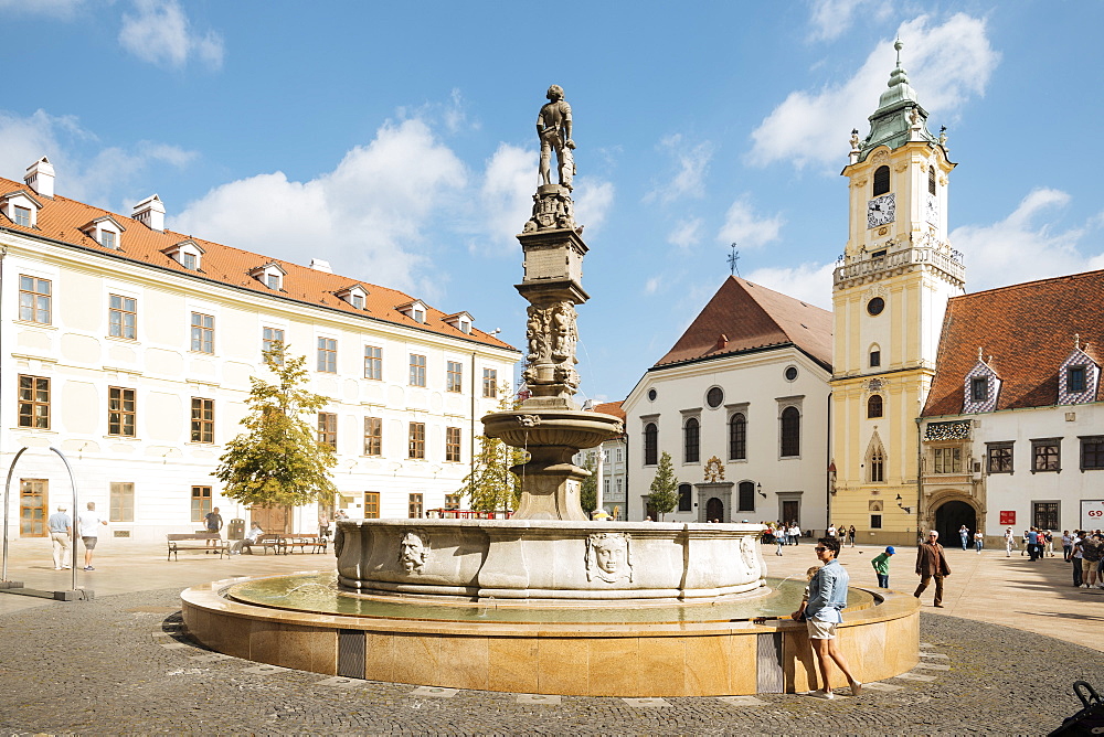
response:
M1080 227L1055 227L1053 218L1070 200L1060 190L1038 189L998 223L955 228L951 243L965 256L968 289L1104 268L1104 252L1084 254L1080 247L1085 235L1100 227L1101 215Z

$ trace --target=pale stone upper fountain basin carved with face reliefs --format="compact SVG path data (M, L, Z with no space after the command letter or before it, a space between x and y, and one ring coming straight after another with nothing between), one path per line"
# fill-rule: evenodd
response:
M478 599L713 599L764 585L757 524L364 520L338 524L344 588Z

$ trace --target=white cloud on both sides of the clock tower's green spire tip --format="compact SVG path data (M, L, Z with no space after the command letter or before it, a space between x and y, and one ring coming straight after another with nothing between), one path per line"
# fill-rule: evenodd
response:
M970 96L985 93L1000 54L989 45L983 19L957 13L941 25L930 22L921 15L899 29L905 43L902 66L921 105L949 121ZM866 119L885 89L894 60L892 41L883 41L849 79L819 92L790 93L752 132L749 162L789 161L798 169L839 164L851 128L866 135Z

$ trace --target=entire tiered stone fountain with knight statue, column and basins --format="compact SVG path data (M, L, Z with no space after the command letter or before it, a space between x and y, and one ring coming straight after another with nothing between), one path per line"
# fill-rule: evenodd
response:
M572 457L624 428L572 399L587 248L571 199L571 108L558 85L548 98L538 118L541 183L518 236L531 396L484 417L488 436L529 453L513 469L517 512L339 522L336 583L318 574L184 591L184 622L199 641L320 673L533 694L736 695L810 683L805 628L784 618L803 583L766 586L761 525L583 514L588 472ZM863 681L916 663L912 597L853 589L845 619L840 644Z

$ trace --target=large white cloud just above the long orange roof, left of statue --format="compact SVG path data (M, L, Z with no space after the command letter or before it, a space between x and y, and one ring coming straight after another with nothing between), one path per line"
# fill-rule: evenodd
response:
M405 120L385 124L332 172L307 182L275 172L223 184L170 225L297 264L325 258L339 273L433 299L439 276L418 268L428 261L423 234L461 209L457 193L468 178L425 122Z

